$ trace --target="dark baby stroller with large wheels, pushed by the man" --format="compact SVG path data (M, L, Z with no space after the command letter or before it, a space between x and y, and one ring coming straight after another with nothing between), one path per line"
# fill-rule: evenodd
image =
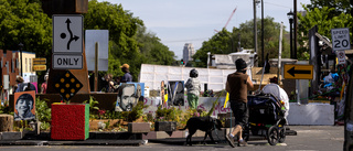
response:
M285 119L286 109L272 94L250 95L248 99L249 119L243 131L243 138L248 141L249 136L261 136L268 143L276 145L286 140Z

